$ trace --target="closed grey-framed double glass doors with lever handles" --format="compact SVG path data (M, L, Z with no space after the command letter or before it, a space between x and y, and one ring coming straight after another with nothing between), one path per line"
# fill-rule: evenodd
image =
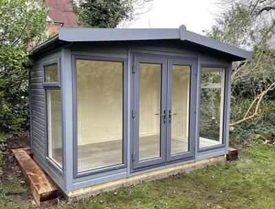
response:
M196 59L136 54L133 60L133 169L192 157Z

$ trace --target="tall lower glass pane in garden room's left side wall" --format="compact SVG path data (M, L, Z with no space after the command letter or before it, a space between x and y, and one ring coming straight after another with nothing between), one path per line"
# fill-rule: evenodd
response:
M62 167L61 90L47 89L48 156Z

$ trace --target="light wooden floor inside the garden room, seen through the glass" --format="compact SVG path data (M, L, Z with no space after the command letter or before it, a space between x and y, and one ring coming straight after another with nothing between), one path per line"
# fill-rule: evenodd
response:
M200 141L201 146L213 146L217 142ZM172 139L171 153L188 151L187 140ZM53 158L61 162L61 149L52 151ZM140 160L159 157L159 136L140 137ZM78 146L78 172L122 164L122 140Z

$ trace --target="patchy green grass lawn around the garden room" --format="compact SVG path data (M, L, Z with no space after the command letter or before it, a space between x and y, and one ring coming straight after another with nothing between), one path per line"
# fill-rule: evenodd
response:
M32 207L25 199L28 186L22 187L19 181L14 172L2 179L0 208ZM54 208L275 208L275 146L245 148L236 162L107 192L75 206L59 203Z

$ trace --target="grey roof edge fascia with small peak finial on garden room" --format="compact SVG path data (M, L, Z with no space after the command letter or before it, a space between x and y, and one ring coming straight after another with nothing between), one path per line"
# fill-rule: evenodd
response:
M142 41L142 40L179 40L189 41L203 47L238 56L240 60L251 59L252 52L221 43L206 36L186 30L185 25L179 28L135 29L135 28L60 28L59 34L41 43L31 50L36 54L56 41L93 42L93 41Z

